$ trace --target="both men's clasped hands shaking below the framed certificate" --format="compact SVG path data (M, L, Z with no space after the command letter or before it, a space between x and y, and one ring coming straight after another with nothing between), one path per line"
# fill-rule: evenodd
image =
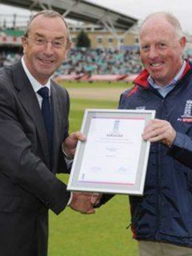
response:
M101 197L99 193L73 192L69 207L80 213L95 213L94 206L100 202Z

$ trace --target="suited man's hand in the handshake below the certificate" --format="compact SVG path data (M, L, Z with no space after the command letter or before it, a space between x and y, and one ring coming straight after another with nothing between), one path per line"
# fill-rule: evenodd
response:
M91 203L92 193L73 192L72 201L69 207L80 213L95 213L93 204Z

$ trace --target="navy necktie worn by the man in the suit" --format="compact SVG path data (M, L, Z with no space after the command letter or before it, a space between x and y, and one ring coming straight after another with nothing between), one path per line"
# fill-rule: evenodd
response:
M48 87L42 87L40 90L37 91L37 93L39 95L41 95L43 98L41 112L43 115L45 129L47 131L48 149L49 149L49 155L50 155L50 160L51 160L53 122L52 122L51 105L49 102L48 91L49 91Z

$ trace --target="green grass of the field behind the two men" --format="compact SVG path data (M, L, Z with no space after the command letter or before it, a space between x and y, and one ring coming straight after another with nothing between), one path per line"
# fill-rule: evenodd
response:
M121 86L125 90L128 84L123 83L65 83L70 88L80 87L107 88ZM69 116L70 132L80 129L85 108L117 108L117 101L90 100L71 98ZM59 175L65 182L68 176ZM118 195L96 210L95 214L84 215L64 210L59 216L50 212L49 256L137 256L137 241L132 239L128 196Z

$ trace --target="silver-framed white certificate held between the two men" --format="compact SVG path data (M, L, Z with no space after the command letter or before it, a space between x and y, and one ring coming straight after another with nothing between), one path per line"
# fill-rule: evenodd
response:
M142 195L149 141L141 137L154 110L86 109L67 189Z

